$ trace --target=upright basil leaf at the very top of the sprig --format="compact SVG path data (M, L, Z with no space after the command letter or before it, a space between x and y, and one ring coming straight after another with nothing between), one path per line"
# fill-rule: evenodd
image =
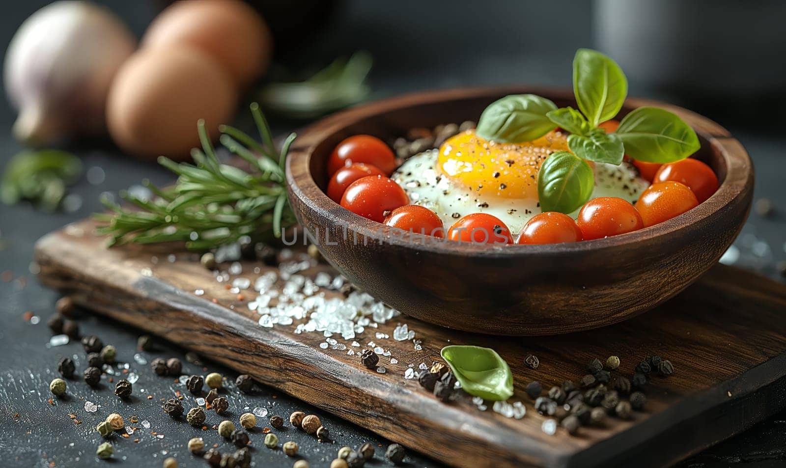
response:
M597 126L623 108L628 80L614 60L595 50L578 49L573 59L573 93L578 109Z

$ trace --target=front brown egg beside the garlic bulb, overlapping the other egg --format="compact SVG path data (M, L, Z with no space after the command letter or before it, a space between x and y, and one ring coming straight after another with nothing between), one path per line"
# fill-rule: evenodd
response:
M135 155L188 159L200 146L196 121L212 139L230 122L237 86L210 56L187 47L142 49L118 71L107 101L115 142Z

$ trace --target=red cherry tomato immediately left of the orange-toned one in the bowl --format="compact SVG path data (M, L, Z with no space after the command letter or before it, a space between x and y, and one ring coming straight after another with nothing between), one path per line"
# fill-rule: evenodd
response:
M599 196L589 200L578 212L576 224L585 240L618 236L644 227L636 208L615 196Z

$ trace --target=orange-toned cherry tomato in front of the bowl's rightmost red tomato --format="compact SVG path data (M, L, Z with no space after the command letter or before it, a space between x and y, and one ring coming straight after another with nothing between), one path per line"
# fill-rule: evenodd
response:
M699 205L699 200L687 185L679 182L656 182L641 192L636 209L645 226L668 221Z

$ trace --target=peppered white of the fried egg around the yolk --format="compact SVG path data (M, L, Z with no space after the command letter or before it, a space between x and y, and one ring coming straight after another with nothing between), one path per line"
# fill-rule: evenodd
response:
M413 155L391 178L404 189L410 203L434 211L445 229L466 214L487 213L501 219L516 236L530 218L541 212L537 199L482 197L454 183L436 169L438 155L438 149ZM619 166L595 163L594 170L595 188L591 198L616 196L634 203L649 186L630 163ZM578 217L578 211L571 213L571 217Z

